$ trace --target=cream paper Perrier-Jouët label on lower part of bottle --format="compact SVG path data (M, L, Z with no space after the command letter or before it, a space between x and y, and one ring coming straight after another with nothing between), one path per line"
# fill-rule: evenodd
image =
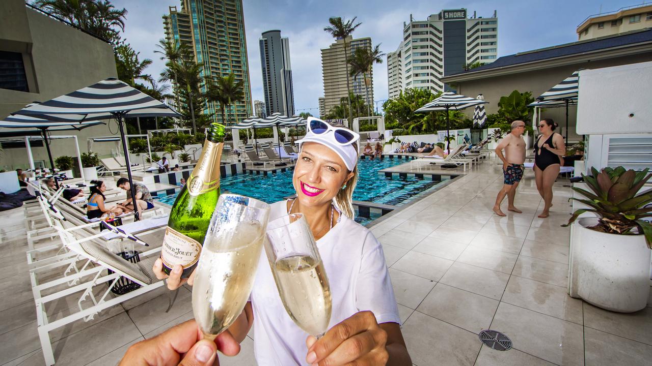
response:
M174 268L181 264L186 269L200 259L201 244L168 226L165 230L161 252L161 259L165 266Z

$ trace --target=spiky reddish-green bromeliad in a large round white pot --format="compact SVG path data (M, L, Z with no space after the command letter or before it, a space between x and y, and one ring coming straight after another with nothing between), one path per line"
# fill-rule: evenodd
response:
M652 174L605 168L584 181L591 191L573 187L586 199L572 198L587 208L576 210L571 225L569 294L621 313L644 309L650 289L652 190L639 191ZM591 212L596 217L578 216Z

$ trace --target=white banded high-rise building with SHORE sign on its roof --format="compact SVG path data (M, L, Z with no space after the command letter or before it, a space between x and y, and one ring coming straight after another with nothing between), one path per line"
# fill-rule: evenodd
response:
M498 54L498 18L467 18L466 9L441 10L426 20L403 23L403 41L387 53L389 97L410 88L447 91L439 81Z

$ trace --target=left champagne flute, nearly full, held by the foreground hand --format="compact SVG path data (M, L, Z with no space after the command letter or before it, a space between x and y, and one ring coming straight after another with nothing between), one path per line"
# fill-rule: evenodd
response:
M242 313L254 285L269 204L220 195L201 249L192 312L206 339L215 339Z

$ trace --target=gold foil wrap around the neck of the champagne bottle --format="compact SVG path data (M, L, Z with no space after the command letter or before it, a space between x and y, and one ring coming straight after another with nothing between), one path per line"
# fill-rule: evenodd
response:
M188 178L188 193L193 196L213 190L220 186L220 160L222 146L220 143L204 142L205 152Z

